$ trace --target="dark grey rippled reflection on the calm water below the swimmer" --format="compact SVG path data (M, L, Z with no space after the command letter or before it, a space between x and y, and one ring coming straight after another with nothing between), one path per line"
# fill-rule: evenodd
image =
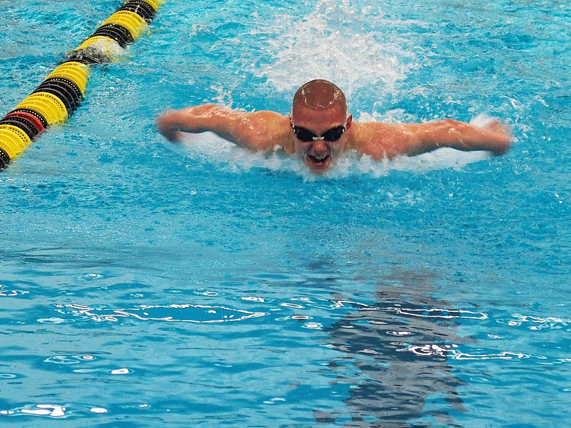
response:
M335 382L352 385L345 400L351 420L345 426L457 426L451 414L464 410L457 388L465 383L453 374L445 356L419 357L411 347L457 344L454 319L482 319L485 314L434 309L449 304L428 297L428 285L420 284L424 290L418 283L412 290L379 289L374 306L361 306L324 329L330 335L327 346L342 353L329 363ZM430 402L439 403L436 410L429 409ZM334 423L342 415L315 411L321 423Z

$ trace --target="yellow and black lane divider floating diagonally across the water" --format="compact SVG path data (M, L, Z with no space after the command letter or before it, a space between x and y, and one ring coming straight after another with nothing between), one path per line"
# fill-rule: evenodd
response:
M66 122L83 102L91 66L112 62L110 46L138 39L164 0L127 0L0 119L0 169L6 168L48 127ZM116 51L116 50L115 50Z

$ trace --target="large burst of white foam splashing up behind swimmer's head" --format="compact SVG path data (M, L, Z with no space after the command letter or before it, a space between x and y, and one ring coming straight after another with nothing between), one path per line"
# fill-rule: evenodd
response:
M375 87L375 95L396 90L399 80L418 66L416 55L405 51L387 27L379 7L356 9L348 0L320 0L305 16L276 15L266 43L274 62L260 64L256 74L278 91L291 92L312 79L331 80L350 97L361 87ZM274 25L279 22L280 25Z

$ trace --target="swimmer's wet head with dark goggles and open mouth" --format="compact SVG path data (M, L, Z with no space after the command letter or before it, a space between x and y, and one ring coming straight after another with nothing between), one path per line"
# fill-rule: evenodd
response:
M327 80L311 80L293 96L291 111L297 155L309 171L328 171L345 150L351 128L343 91Z

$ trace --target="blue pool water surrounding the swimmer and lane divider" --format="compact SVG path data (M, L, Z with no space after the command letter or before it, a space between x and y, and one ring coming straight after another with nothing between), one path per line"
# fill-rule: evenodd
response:
M2 111L118 5L0 3ZM0 174L2 426L568 425L570 29L557 0L167 0ZM357 120L517 142L313 179L154 128L287 114L312 78Z

